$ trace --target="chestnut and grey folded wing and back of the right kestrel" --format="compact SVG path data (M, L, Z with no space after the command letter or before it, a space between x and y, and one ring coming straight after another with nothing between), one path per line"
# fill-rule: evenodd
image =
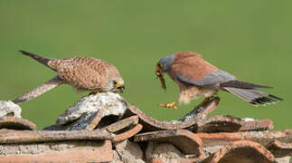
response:
M172 73L180 82L198 86L212 86L236 80L235 76L204 61L197 53L178 53L174 57Z

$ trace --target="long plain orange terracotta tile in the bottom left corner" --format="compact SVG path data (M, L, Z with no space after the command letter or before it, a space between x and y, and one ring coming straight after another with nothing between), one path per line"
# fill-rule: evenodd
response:
M96 145L97 144L97 145ZM113 160L110 140L92 142L72 149L45 151L40 154L0 155L0 162L109 162Z

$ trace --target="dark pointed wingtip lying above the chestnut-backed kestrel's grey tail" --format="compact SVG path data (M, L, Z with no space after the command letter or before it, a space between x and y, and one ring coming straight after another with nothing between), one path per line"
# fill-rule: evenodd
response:
M232 88L240 88L240 89L254 89L254 88L273 88L265 85L254 84L250 82L242 82L238 80L233 80L229 82L222 82L220 84L221 87L232 87Z

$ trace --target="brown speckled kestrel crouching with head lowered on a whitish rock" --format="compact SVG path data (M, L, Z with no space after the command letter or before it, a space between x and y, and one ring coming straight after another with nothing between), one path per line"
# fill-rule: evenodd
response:
M105 91L123 92L125 89L124 80L118 69L108 62L89 57L57 60L24 51L20 52L51 68L58 75L17 98L14 100L15 103L29 101L63 83L70 84L77 91L90 91L90 94Z

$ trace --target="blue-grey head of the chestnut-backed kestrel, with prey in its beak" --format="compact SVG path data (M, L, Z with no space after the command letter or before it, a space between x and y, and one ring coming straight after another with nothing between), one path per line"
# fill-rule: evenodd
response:
M161 82L161 86L163 89L166 89L164 73L170 72L172 64L174 62L174 55L168 55L159 60L156 64L156 76L159 78Z

